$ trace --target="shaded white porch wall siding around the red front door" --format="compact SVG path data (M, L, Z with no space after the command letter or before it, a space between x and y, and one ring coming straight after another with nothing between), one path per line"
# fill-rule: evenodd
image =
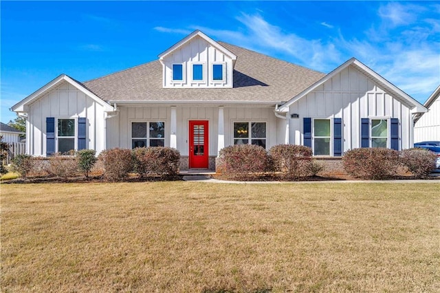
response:
M131 149L132 122L165 122L165 146L170 146L171 107L119 107L119 115L107 120L107 147ZM207 120L209 127L209 155L217 156L219 107L195 107L181 105L176 107L177 149L181 155L188 155L190 120ZM234 144L234 122L266 122L267 149L277 143L276 117L269 107L224 107L225 146Z

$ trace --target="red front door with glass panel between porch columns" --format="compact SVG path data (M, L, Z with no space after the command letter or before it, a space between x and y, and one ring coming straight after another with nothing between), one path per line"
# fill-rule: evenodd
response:
M190 121L190 168L208 168L208 121Z

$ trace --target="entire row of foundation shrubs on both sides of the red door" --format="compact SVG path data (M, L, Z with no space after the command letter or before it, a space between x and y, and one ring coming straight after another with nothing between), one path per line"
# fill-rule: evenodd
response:
M104 175L109 181L126 179L129 173L139 177L175 177L179 172L180 154L169 147L109 149L98 158L94 150L82 150L70 155L56 153L50 158L17 155L12 171L28 177L46 175L67 179L90 173ZM404 167L414 177L425 178L435 168L436 155L425 149L394 151L383 148L353 149L342 156L344 170L353 177L383 180L397 175ZM236 180L253 180L270 176L281 180L300 180L324 169L314 160L307 146L279 144L266 151L261 146L241 144L220 151L221 173Z

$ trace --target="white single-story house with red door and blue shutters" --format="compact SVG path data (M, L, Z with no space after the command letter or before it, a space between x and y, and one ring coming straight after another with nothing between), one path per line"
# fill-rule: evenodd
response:
M224 146L408 149L419 102L355 58L329 74L195 31L156 61L78 82L58 76L12 107L27 151L170 146L181 169L214 169Z

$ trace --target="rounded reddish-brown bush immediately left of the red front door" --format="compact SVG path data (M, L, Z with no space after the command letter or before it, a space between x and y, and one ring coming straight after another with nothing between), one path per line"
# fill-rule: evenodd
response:
M160 175L173 177L179 173L180 153L166 146L133 149L135 171L140 177Z

